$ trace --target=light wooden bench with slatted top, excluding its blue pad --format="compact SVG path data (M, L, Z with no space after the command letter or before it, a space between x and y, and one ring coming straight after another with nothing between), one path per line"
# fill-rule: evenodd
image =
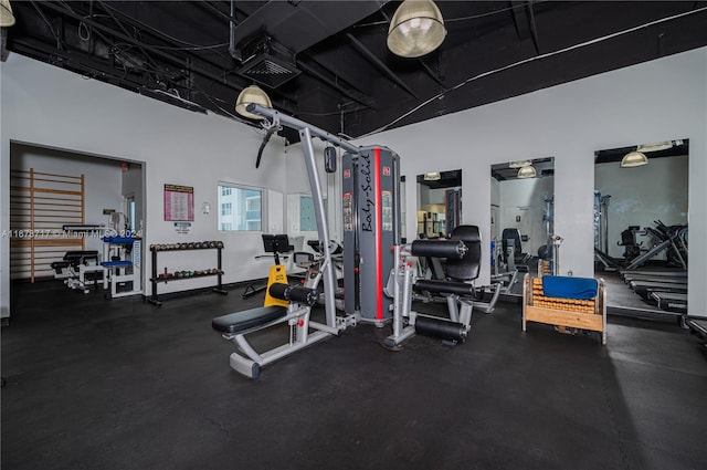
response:
M571 278L570 278L571 279ZM582 279L582 278L578 278ZM597 280L597 293L592 299L571 299L571 295L546 296L542 279L525 275L523 284L523 331L527 322L547 323L590 330L601 334L606 344L606 291L604 281Z

